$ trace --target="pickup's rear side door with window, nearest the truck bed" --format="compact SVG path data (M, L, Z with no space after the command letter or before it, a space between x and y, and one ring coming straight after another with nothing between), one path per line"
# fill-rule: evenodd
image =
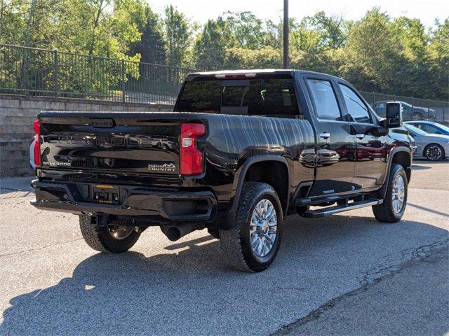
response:
M344 121L335 85L329 78L305 80L317 134L316 181L310 195L320 197L354 190L355 137L350 123Z

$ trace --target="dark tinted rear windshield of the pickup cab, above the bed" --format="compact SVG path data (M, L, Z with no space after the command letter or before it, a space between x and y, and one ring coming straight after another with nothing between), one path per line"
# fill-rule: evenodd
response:
M287 117L300 114L291 78L186 82L175 111Z

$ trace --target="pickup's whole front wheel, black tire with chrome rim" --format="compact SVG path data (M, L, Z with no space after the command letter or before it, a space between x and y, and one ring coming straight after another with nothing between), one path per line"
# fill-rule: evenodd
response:
M387 183L384 202L373 206L373 213L377 221L396 223L401 221L407 204L408 180L406 171L401 165L391 165Z

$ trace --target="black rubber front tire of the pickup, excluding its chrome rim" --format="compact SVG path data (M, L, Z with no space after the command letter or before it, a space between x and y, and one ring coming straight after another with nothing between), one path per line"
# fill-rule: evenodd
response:
M396 180L397 176L401 176L404 188L403 204L400 211L394 210L393 202L394 181ZM384 223L396 223L398 221L401 221L404 211L406 211L407 187L408 181L406 171L401 165L398 165L396 163L392 164L388 177L387 193L385 194L384 202L382 204L373 206L373 213L377 221Z

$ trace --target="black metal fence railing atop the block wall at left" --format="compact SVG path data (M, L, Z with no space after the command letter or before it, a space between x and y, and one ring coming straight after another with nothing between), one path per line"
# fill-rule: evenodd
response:
M167 66L0 44L0 93L174 104L193 72Z

